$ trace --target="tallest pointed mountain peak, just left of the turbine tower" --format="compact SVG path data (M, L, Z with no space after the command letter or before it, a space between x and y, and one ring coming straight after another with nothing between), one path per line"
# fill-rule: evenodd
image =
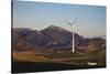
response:
M40 31L51 39L51 47L53 49L69 49L72 46L73 33L55 25Z

